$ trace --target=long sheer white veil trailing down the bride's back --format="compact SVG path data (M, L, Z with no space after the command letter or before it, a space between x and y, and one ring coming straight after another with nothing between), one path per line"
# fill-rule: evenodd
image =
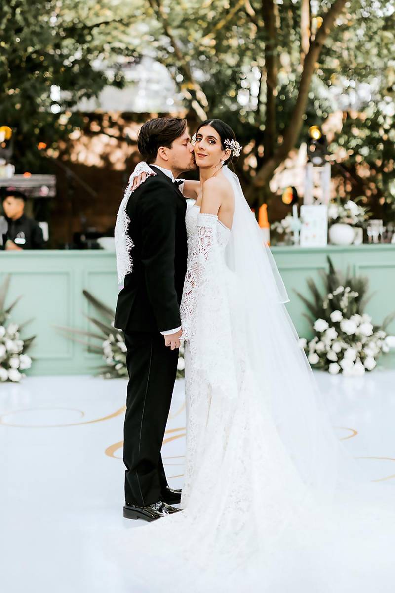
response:
M223 172L235 196L226 260L236 274L245 304L248 357L287 451L304 483L313 488L321 502L344 496L354 500L356 490L357 498L375 505L380 499L393 500L391 487L365 483L358 462L330 424L325 400L284 305L289 299L280 272L269 247L262 242L261 229L239 178L227 167Z

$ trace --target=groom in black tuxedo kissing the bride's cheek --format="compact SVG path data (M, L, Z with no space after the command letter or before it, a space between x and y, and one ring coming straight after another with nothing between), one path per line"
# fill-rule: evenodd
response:
M175 178L195 168L187 122L158 117L142 126L137 146L156 176L129 198L133 272L118 295L114 325L124 331L129 372L124 423L123 516L154 521L179 509L181 490L168 486L162 448L181 337L187 271L187 203Z

